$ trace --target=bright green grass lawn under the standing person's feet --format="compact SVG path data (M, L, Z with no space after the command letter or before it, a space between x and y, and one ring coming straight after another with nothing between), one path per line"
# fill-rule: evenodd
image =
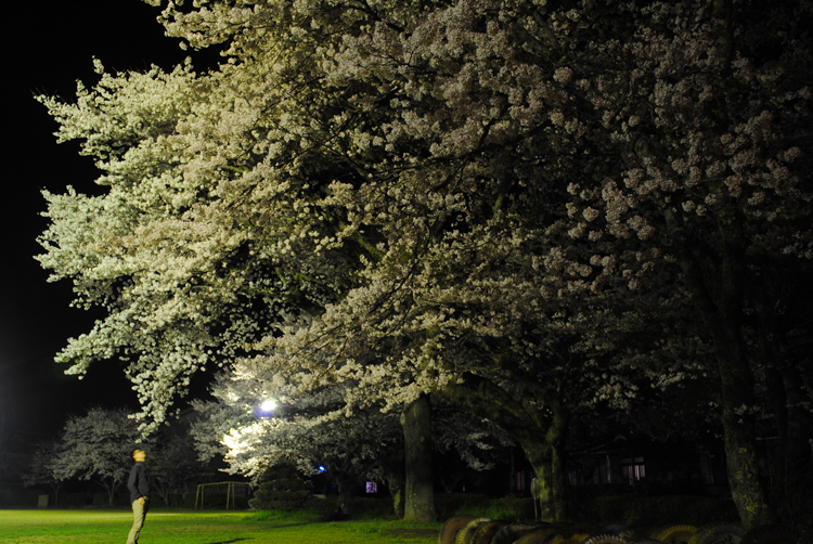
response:
M0 510L2 544L118 544L127 510ZM319 521L313 515L153 509L142 544L435 544L441 523Z

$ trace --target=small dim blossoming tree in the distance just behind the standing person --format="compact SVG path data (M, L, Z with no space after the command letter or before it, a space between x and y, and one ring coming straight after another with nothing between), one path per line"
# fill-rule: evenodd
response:
M72 416L57 444L54 476L98 483L113 506L116 492L127 483L132 451L141 438L138 423L125 410L94 407L85 416ZM141 449L146 450L143 442Z

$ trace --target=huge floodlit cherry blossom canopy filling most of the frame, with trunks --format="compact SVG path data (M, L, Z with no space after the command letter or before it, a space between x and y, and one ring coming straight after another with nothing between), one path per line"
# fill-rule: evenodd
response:
M238 358L292 394L346 384L346 414L447 396L522 444L555 519L570 418L622 409L642 374L709 371L696 329L669 325L691 301L735 502L763 522L760 376L778 364L772 390L810 392L788 389L798 362L753 355L743 333L778 352L771 279L810 268L810 16L793 1L169 2L168 34L221 47L218 69L100 65L75 104L41 99L106 187L46 195L42 264L107 311L59 360L129 358L146 429L194 372Z

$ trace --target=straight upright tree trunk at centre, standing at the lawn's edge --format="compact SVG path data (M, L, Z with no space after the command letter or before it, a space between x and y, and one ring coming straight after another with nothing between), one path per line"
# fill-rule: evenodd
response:
M403 519L435 521L435 489L431 472L431 406L421 396L401 415L405 455Z

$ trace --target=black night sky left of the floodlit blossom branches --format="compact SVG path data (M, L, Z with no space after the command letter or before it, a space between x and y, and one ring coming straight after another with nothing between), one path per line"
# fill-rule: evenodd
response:
M92 57L108 70L165 69L186 53L164 37L159 10L140 0L44 0L4 7L7 66L3 96L3 247L0 260L0 424L5 432L59 429L68 414L92 405L138 407L136 393L115 362L91 366L83 380L63 374L53 362L68 337L87 332L93 314L68 307L69 282L48 283L34 259L37 236L46 229L39 213L42 189L98 191L98 171L78 154L76 142L56 144L56 124L35 94L75 96L76 80L96 81ZM193 60L195 56L193 55Z

